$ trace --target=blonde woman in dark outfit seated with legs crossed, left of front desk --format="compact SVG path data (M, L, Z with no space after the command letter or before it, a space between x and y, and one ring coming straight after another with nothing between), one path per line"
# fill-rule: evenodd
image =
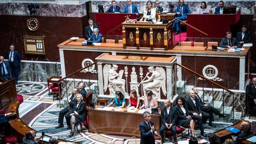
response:
M87 111L85 111L85 102L81 94L76 94L76 102L73 108L69 111L73 111L69 116L71 116L71 132L69 137L73 136L75 132L75 123L80 121L85 121L87 116Z

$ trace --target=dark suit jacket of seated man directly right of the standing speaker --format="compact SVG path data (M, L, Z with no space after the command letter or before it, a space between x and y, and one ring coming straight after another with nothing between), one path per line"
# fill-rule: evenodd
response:
M175 114L175 111L176 111L176 108L175 107L170 107L170 110L169 110L169 114L167 113L167 108L166 107L162 107L161 108L161 120L162 120L162 123L165 124L165 123L172 123L172 124L176 124L176 114Z

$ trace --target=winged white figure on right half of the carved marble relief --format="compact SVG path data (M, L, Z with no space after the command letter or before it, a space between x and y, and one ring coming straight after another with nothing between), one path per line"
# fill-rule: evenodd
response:
M149 77L149 74L152 73L152 75ZM146 91L150 89L154 97L158 99L160 98L160 88L162 88L162 92L164 95L167 95L166 90L166 75L164 68L149 66L148 73L146 73L146 79L140 82L140 84L143 84L143 92L144 95L146 94Z

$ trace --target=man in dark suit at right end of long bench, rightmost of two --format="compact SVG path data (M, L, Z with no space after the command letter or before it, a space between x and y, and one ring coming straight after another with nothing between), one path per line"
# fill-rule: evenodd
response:
M242 25L242 31L239 31L236 34L236 40L240 44L249 43L251 42L251 32L247 31L247 25Z

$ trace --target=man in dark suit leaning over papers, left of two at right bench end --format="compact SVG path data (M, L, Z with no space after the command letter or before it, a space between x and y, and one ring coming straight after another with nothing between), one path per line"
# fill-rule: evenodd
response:
M235 49L236 47L242 47L241 44L238 43L235 37L232 37L231 31L226 32L226 37L220 41L220 47Z

